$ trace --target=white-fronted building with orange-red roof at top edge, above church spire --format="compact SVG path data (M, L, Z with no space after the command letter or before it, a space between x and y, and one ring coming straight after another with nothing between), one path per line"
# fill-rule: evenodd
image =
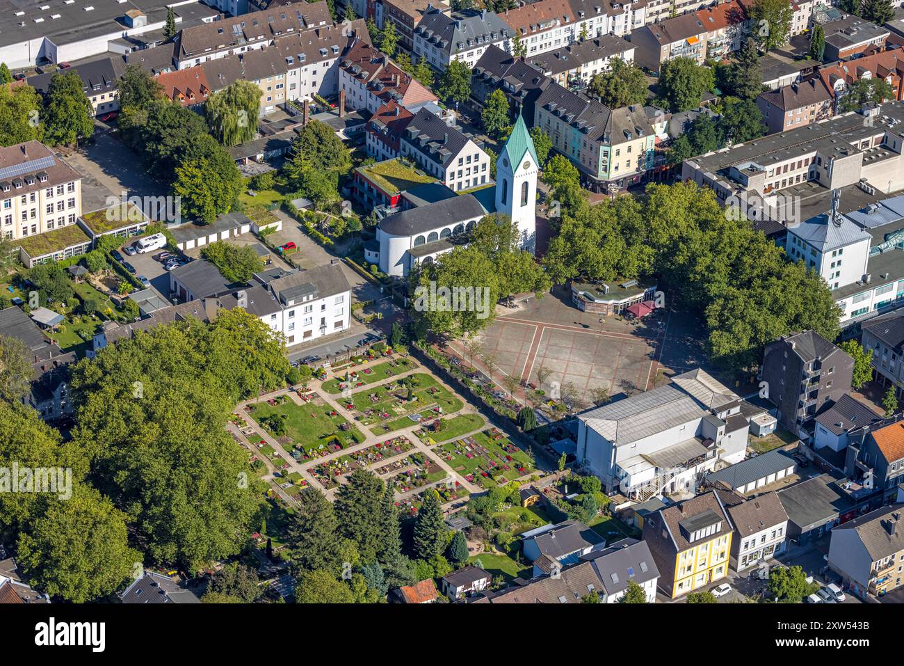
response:
M538 0L506 9L500 17L512 28L513 52L515 42L520 41L528 58L578 39L575 14L568 0Z

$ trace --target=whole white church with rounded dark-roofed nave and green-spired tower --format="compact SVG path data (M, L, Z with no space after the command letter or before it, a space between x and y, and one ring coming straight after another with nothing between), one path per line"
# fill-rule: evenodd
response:
M406 207L377 224L364 259L388 275L404 278L421 262L433 262L456 245L487 214L504 214L518 224L521 246L535 251L539 161L521 116L496 159L496 183L458 195L441 184L403 193Z

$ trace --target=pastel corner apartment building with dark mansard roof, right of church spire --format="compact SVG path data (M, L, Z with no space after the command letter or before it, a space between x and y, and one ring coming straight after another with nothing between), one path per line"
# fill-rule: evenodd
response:
M591 191L622 190L653 167L655 133L642 107L609 109L553 82L537 98L533 122Z

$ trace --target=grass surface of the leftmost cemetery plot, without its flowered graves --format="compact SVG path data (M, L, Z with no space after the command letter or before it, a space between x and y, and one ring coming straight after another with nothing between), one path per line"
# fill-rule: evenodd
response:
M297 447L306 452L324 448L333 437L337 437L343 443L343 448L350 443L364 441L361 431L356 428L340 430L340 426L348 423L344 417L339 414L331 415L328 405L315 404L316 402L320 401L312 401L311 404L301 406L286 398L282 404L258 403L249 405L251 407L249 414L268 433L276 437L286 451L292 451ZM286 432L278 435L268 428L268 423L271 422L271 417L281 416L285 416Z

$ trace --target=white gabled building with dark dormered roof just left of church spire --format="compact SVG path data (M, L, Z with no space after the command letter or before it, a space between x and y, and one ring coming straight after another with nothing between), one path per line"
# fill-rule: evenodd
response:
M400 152L456 192L492 182L483 147L428 109L420 109L406 124Z

